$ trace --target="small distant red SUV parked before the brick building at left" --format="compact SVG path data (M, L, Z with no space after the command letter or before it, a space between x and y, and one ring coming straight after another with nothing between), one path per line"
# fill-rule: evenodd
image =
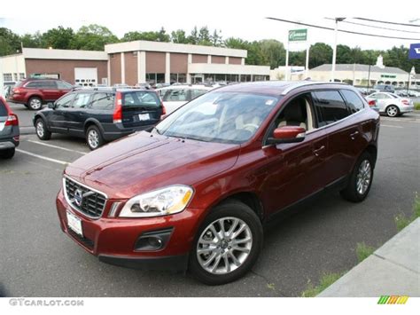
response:
M44 103L61 98L73 88L72 84L57 79L26 79L12 88L9 100L39 110Z

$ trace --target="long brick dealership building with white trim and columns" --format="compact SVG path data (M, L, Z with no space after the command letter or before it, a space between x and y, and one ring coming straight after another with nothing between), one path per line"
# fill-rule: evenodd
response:
M84 86L269 80L269 67L245 65L246 56L245 50L148 41L108 44L105 51L23 48L0 58L0 87L26 77Z

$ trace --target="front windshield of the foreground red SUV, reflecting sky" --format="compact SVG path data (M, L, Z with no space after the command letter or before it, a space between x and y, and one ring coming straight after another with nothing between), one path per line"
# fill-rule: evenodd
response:
M240 144L256 133L278 98L214 91L182 106L152 132L167 137Z

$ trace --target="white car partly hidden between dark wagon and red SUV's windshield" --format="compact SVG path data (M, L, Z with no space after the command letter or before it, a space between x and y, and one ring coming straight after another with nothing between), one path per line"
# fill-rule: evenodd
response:
M157 89L163 105L167 108L167 114L171 114L179 107L191 101L193 98L213 90L213 86L179 84L171 85L166 88Z

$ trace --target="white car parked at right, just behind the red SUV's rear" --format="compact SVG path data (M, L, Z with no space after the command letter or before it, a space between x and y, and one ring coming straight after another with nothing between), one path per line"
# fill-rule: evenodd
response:
M380 114L386 114L389 117L400 116L414 110L413 101L409 98L401 98L394 93L377 92L370 94L366 99L376 100Z

